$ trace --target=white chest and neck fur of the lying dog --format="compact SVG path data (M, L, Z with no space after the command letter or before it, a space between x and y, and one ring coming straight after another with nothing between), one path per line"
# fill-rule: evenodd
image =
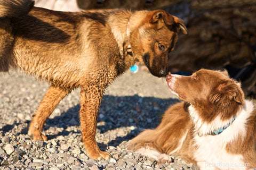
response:
M237 113L236 120L222 133L218 135L199 136L195 130L194 140L197 147L194 158L197 160L201 169L246 169L243 166L242 155L229 154L226 151L227 142L231 142L246 134L246 123L254 109L252 101L245 100L245 106ZM207 124L203 122L195 108L189 107L189 112L196 124L196 129L201 133L209 132L210 129L222 127L227 121L220 121L217 117L215 120Z

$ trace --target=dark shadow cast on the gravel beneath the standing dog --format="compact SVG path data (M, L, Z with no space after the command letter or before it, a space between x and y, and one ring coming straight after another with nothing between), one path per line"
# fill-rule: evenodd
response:
M178 99L161 99L155 97L139 97L134 96L110 96L105 95L102 99L100 111L98 115L97 128L100 133L109 130L115 130L122 127L134 126L135 129L124 137L117 137L108 143L110 146L118 146L122 141L127 141L140 133L142 129L153 129L160 123L162 114L172 104L177 103ZM70 133L80 133L75 131L67 131L69 126L79 126L79 105L71 107L67 112L60 116L49 118L46 120L44 130L51 127L63 128L61 132L54 134L46 134L48 139L54 139L59 135L64 137ZM29 122L26 121L27 127ZM13 127L18 124L5 125L1 131L4 133L12 131ZM28 128L22 130L22 134L26 134ZM102 150L106 149L106 145L99 143Z

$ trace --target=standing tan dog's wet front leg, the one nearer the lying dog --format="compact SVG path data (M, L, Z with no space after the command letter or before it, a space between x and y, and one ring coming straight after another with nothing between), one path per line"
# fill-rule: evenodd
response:
M108 159L109 154L101 151L95 140L97 129L97 116L103 96L103 88L98 85L81 87L80 99L80 121L82 140L84 142L87 155L93 159Z

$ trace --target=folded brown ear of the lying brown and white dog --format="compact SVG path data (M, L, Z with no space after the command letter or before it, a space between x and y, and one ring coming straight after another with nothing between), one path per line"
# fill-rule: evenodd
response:
M219 84L210 94L210 101L215 104L227 105L231 100L244 105L244 93L234 80Z

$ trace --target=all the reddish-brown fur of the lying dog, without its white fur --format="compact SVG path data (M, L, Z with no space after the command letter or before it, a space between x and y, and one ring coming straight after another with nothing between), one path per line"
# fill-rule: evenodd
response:
M193 106L195 108L203 123L210 124L217 116L220 116L221 121L230 120L237 116L237 113L245 105L240 84L231 80L227 72L203 69L189 77L167 75L166 80L170 89L183 101L167 109L161 124L156 129L143 131L129 141L128 148L133 150L154 148L162 154L170 154L181 145L179 150L174 151L175 153L179 154L188 163L197 164L198 161L202 162L195 155L199 147L195 141L196 138L200 137L196 137L199 132L188 107ZM246 114L251 115L245 124L246 133L239 134L237 138L227 142L225 144L226 152L233 154L234 157L236 154L242 155L244 163L250 163L250 167L256 167L255 108L251 113ZM213 135L212 139L217 136ZM184 141L181 140L182 137L185 137ZM166 161L161 159L159 157L160 161Z

